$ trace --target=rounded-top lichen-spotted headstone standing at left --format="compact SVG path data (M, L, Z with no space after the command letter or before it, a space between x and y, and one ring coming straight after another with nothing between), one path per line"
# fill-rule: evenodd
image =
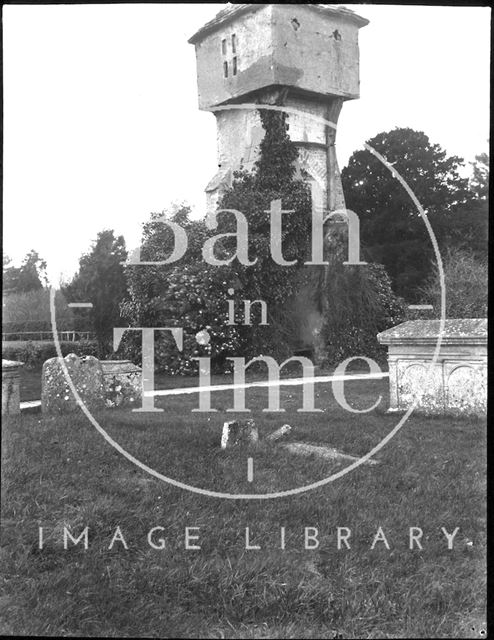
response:
M41 411L72 413L79 406L64 375L62 361L84 405L90 410L102 409L105 406L105 388L99 360L93 356L79 358L75 353L69 353L63 360L50 358L43 364Z

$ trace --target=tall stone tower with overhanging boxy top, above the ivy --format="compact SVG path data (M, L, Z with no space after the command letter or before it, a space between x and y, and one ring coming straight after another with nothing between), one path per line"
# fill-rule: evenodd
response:
M344 207L335 153L336 131L304 114L337 123L345 100L359 97L358 31L368 24L345 7L326 4L228 4L195 33L199 108L278 104L289 113L299 169L313 183L315 205ZM264 135L259 112L215 112L218 172L206 187L216 206L233 172L250 169Z

